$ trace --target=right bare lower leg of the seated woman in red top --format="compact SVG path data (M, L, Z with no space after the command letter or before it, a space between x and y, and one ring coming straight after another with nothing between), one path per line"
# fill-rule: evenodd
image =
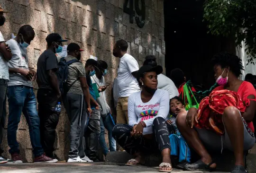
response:
M226 107L223 113L223 123L229 135L235 154L235 165L245 166L244 163L244 125L238 109Z

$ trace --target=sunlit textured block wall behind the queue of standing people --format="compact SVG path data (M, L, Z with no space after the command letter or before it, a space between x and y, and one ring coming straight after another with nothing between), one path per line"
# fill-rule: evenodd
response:
M0 0L0 6L8 10L6 23L0 31L6 40L11 33L17 34L20 26L31 25L36 32L34 41L28 47L29 67L37 69L37 59L46 49L46 36L59 33L68 43L78 43L82 49L82 62L90 55L107 61L109 72L106 82L111 83L117 77L119 59L113 57L115 41L125 39L129 43L128 53L134 56L139 65L146 54L154 54L160 65L165 67L164 7L163 0L146 0L146 23L139 28L129 22L129 15L123 12L125 0ZM34 84L37 93L37 84ZM110 102L110 88L107 98ZM8 109L8 107L7 107ZM7 144L7 123L2 147L4 155L10 158ZM64 159L69 150L69 121L64 112L56 130L56 154ZM28 127L22 115L17 139L24 161L32 162L33 153Z

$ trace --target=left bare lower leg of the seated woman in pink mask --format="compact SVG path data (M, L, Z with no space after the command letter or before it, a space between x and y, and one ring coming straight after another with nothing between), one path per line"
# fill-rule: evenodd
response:
M195 129L191 129L187 125L186 116L186 113L178 114L176 118L176 125L180 130L182 136L186 139L188 145L192 147L199 156L201 156L201 161L204 164L208 165L212 162L211 156L203 146L201 140L199 139L197 131ZM211 164L210 167L215 168L216 164Z

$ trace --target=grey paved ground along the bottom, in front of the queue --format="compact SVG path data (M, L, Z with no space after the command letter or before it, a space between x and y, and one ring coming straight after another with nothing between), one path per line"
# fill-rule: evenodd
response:
M56 164L0 164L0 173L160 173L156 168L145 166L118 166L104 163L56 163ZM181 171L172 173L203 173ZM217 172L215 172L217 173Z

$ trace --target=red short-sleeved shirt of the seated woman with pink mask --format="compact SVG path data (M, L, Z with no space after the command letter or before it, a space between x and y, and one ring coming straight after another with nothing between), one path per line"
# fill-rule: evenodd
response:
M218 90L222 90L224 89L224 86L218 86L216 87L213 91L218 91ZM239 86L238 88L238 95L240 95L241 99L243 102L246 102L247 97L249 95L254 95L256 98L256 90L254 88L254 86L247 81L243 81L243 83ZM256 99L251 99L256 101ZM254 132L254 126L253 126L253 122L247 122L248 127Z

